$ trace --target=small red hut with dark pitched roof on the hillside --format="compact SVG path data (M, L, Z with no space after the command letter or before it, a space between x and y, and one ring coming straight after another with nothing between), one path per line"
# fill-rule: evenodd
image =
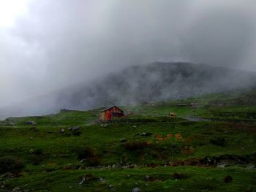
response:
M109 107L100 112L100 120L111 120L112 118L121 118L124 117L124 111L120 108L113 106Z

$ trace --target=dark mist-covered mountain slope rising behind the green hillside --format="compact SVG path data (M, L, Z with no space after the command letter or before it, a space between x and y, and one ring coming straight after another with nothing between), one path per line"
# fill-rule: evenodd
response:
M88 110L111 104L180 99L255 85L256 73L252 72L204 64L153 63L130 66L94 81L26 101L15 109L1 109L0 118L39 115L61 108Z

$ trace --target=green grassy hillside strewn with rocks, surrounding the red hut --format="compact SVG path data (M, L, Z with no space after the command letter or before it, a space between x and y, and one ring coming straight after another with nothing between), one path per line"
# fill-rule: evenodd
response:
M255 95L126 105L108 123L102 109L7 118L0 191L256 191Z

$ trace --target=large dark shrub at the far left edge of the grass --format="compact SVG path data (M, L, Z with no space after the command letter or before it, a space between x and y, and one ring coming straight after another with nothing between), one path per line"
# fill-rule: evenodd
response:
M23 167L25 167L25 164L23 164L19 158L12 156L4 156L0 158L0 174L5 172L18 172Z

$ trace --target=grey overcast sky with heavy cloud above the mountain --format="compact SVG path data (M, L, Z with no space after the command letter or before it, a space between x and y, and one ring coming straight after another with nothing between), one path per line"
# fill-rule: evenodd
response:
M256 71L255 0L0 0L0 107L129 65Z

